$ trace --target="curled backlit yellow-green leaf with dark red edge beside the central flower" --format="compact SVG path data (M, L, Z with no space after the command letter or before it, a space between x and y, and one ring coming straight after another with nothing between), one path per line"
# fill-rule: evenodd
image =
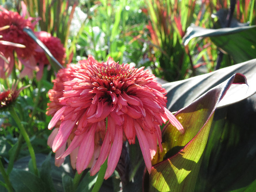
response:
M213 114L232 83L246 83L246 79L241 74L233 75L175 114L184 127L184 135L171 124L166 125L162 145L167 159L162 161L163 155L155 156L153 162L160 163L152 167L148 176L150 191L193 191ZM145 180L147 176L144 184Z

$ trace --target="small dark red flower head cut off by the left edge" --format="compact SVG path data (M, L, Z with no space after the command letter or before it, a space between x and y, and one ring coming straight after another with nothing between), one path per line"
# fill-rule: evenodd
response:
M7 110L15 100L18 98L20 92L28 86L21 87L17 90L18 82L15 81L12 83L11 89L3 88L3 91L0 92L0 110Z

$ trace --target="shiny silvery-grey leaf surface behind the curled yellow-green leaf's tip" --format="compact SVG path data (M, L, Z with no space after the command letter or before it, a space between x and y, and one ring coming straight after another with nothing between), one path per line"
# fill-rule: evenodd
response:
M219 103L218 108L239 102L256 93L256 59L236 64L215 72L207 73L177 82L163 84L167 91L167 109L178 111L189 103L199 98L211 88L228 79L235 73L246 76L247 85L232 85L225 98Z

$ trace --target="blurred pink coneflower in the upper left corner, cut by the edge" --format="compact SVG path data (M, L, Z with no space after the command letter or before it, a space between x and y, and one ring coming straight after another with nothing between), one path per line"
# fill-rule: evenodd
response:
M7 64L5 60L0 59L0 68L3 69L0 73L0 77L5 78L5 73L7 73L7 75L11 74L14 66L14 50L17 53L19 61L24 65L22 75L30 75L31 77L31 72L33 75L33 70L38 71L34 59L36 43L23 31L23 28L27 26L34 29L37 20L35 20L34 23L31 23L33 18L25 19L20 16L19 13L8 11L1 6L0 10L0 27L10 26L8 29L0 31L0 35L3 36L1 40L26 46L26 48L17 48L0 44L1 52L9 61L9 64Z

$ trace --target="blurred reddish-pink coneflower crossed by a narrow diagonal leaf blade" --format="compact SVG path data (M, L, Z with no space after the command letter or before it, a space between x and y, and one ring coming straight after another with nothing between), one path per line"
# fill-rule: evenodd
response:
M60 64L64 64L65 49L61 44L60 39L52 37L51 34L45 31L35 32L35 35L38 37L40 41L43 42L43 44L45 44L45 46L53 54L55 59L59 61ZM39 45L35 49L35 52L35 58L37 63L39 64L39 72L37 73L37 79L41 79L44 65L48 65L48 69L51 67L51 65L49 65L49 60L47 59L45 52L41 49Z

